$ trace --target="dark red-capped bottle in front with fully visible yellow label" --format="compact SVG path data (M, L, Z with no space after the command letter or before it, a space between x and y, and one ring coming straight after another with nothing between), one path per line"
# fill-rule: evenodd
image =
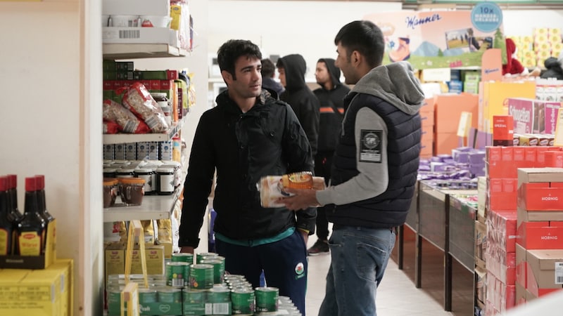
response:
M23 218L18 223L16 235L17 251L20 256L40 256L45 237L45 220L37 204L37 181L35 177L25 178L25 205Z

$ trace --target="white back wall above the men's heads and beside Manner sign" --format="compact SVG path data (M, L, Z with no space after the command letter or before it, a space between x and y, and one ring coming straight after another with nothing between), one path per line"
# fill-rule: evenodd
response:
M400 10L396 2L209 0L208 51L216 53L228 39L249 39L264 55L300 53L308 65L305 77L314 81L317 59L336 57L334 37L343 25L369 13ZM531 35L533 27L563 29L562 15L506 10L505 34Z

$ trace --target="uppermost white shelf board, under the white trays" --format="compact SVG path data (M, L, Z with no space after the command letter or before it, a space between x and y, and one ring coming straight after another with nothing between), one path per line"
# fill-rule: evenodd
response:
M168 44L103 44L104 59L183 57L188 51Z

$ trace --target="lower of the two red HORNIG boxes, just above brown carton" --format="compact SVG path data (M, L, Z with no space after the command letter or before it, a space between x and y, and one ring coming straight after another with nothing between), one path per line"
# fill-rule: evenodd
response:
M563 249L563 222L522 222L517 244L525 249Z

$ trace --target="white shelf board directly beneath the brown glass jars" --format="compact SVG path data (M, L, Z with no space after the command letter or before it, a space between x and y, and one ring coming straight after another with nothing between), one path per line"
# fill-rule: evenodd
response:
M177 187L172 195L147 195L143 197L143 203L139 206L115 206L103 209L103 221L107 223L170 218L180 192L182 185Z

